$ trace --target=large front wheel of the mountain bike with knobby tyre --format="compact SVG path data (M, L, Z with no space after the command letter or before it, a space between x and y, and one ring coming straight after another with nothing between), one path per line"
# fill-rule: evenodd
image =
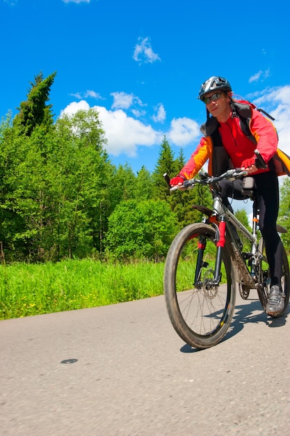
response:
M188 345L209 348L225 336L234 313L236 283L227 244L221 283L213 285L216 231L189 224L173 240L166 258L163 287L172 326Z

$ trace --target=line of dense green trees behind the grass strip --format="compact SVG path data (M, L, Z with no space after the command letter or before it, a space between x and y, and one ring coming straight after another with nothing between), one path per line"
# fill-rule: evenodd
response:
M191 205L211 204L209 192L170 195L163 174L175 175L185 162L166 137L152 173L114 166L95 109L54 121L55 77L40 72L15 117L1 120L1 261L164 258L177 231L200 219ZM289 185L285 190L288 218Z

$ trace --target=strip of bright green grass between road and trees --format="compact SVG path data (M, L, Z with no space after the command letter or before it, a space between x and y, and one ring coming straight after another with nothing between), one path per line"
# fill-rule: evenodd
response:
M65 260L0 266L0 320L161 295L163 263Z

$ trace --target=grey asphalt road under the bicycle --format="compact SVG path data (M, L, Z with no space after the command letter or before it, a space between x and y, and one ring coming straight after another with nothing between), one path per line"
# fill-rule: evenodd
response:
M290 325L255 291L194 350L164 298L0 321L0 435L290 435Z

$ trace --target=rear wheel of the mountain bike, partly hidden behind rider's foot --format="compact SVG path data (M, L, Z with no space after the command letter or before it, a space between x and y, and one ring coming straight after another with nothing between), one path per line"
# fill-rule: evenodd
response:
M268 295L270 292L270 285L271 285L271 274L269 270L268 260L266 257L266 250L265 250L265 243L263 238L259 240L259 247L258 247L259 253L261 254L260 261L259 261L259 282L262 283L262 286L258 289L258 295L259 300L261 302L261 305L266 310L266 305L268 302ZM277 315L270 315L271 318L279 318L280 316L285 313L287 310L287 306L289 303L289 296L290 296L290 277L289 277L289 263L286 251L283 247L283 265L282 265L282 291L285 294L284 299L284 309L281 313L278 313Z

